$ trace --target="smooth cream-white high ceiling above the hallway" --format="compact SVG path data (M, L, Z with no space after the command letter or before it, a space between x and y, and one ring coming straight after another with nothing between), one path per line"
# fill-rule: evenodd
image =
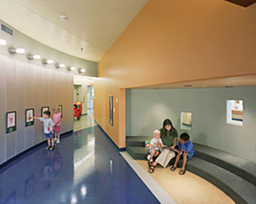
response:
M0 19L51 48L98 62L147 2L0 0Z

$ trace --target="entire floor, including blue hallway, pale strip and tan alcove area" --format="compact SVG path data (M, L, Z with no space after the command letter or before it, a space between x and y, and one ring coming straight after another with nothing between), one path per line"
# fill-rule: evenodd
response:
M0 203L234 203L194 173L150 174L147 161L112 145L88 111L55 150L43 144L0 170Z

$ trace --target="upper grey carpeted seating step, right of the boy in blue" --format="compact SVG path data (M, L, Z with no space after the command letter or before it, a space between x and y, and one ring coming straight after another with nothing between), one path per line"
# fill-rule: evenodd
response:
M253 161L202 144L194 144L193 150L195 150L195 157L223 167L256 186L256 163Z

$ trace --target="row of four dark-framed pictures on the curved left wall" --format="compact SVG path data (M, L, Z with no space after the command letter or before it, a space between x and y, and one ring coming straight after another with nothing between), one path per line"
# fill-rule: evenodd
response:
M59 105L61 117L62 117L62 105ZM49 106L41 108L41 117L43 117L44 111L49 111ZM34 109L26 109L25 111L25 127L34 125L34 119L28 119L30 116L34 116ZM17 129L16 111L10 111L6 113L6 133L14 132Z

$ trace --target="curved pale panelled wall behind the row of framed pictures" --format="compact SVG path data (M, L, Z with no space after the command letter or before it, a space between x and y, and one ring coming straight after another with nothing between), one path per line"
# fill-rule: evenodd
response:
M41 107L63 105L61 133L73 130L73 75L49 70L0 55L0 164L45 141L43 124L35 120L25 127L25 110L33 108L41 116ZM6 133L7 111L17 111L17 130Z

